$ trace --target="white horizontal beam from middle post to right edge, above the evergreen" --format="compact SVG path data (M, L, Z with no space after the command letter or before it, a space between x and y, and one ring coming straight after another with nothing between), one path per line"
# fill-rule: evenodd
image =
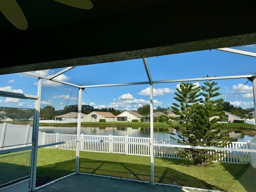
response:
M252 78L253 76L254 75L236 75L236 76L202 77L202 78L190 78L190 79L173 79L173 80L153 81L153 83L174 83L174 82L187 82L187 81L239 79L239 78Z

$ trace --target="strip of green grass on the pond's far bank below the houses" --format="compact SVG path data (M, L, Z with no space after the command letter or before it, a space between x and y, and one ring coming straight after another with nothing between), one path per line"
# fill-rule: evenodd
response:
M173 124L177 124L173 122ZM40 126L75 127L77 123L40 123ZM150 127L150 122L81 122L82 127ZM155 128L171 128L165 122L154 122Z

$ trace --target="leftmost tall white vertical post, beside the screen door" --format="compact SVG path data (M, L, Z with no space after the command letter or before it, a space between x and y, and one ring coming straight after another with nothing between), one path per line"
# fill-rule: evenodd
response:
M36 165L37 165L37 147L38 147L41 90L42 90L42 79L38 78L38 84L37 84L38 99L35 102L33 137L32 137L33 149L32 149L32 156L31 156L31 176L30 176L30 189L32 191L34 191L36 188Z

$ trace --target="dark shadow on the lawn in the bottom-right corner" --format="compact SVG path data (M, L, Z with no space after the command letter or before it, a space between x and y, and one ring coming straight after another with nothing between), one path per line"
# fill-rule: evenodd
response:
M256 190L256 169L249 164L229 164L221 163L225 170L227 170L234 180L240 182L244 189L248 192L255 192Z

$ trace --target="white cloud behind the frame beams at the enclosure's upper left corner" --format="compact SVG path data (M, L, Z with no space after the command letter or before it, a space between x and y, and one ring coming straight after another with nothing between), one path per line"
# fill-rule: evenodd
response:
M50 76L51 72L53 72L52 70L48 69L48 70L39 70L39 71L35 71L36 74L41 75L41 76ZM60 80L60 81L68 81L70 79L69 76L66 76L64 74L60 74L57 77L53 78L56 80ZM34 85L37 85L37 82L34 82ZM57 86L62 86L63 84L58 83L58 82L54 82L54 81L50 81L50 80L46 80L43 79L42 80L42 85L43 86L51 86L51 87L57 87Z

